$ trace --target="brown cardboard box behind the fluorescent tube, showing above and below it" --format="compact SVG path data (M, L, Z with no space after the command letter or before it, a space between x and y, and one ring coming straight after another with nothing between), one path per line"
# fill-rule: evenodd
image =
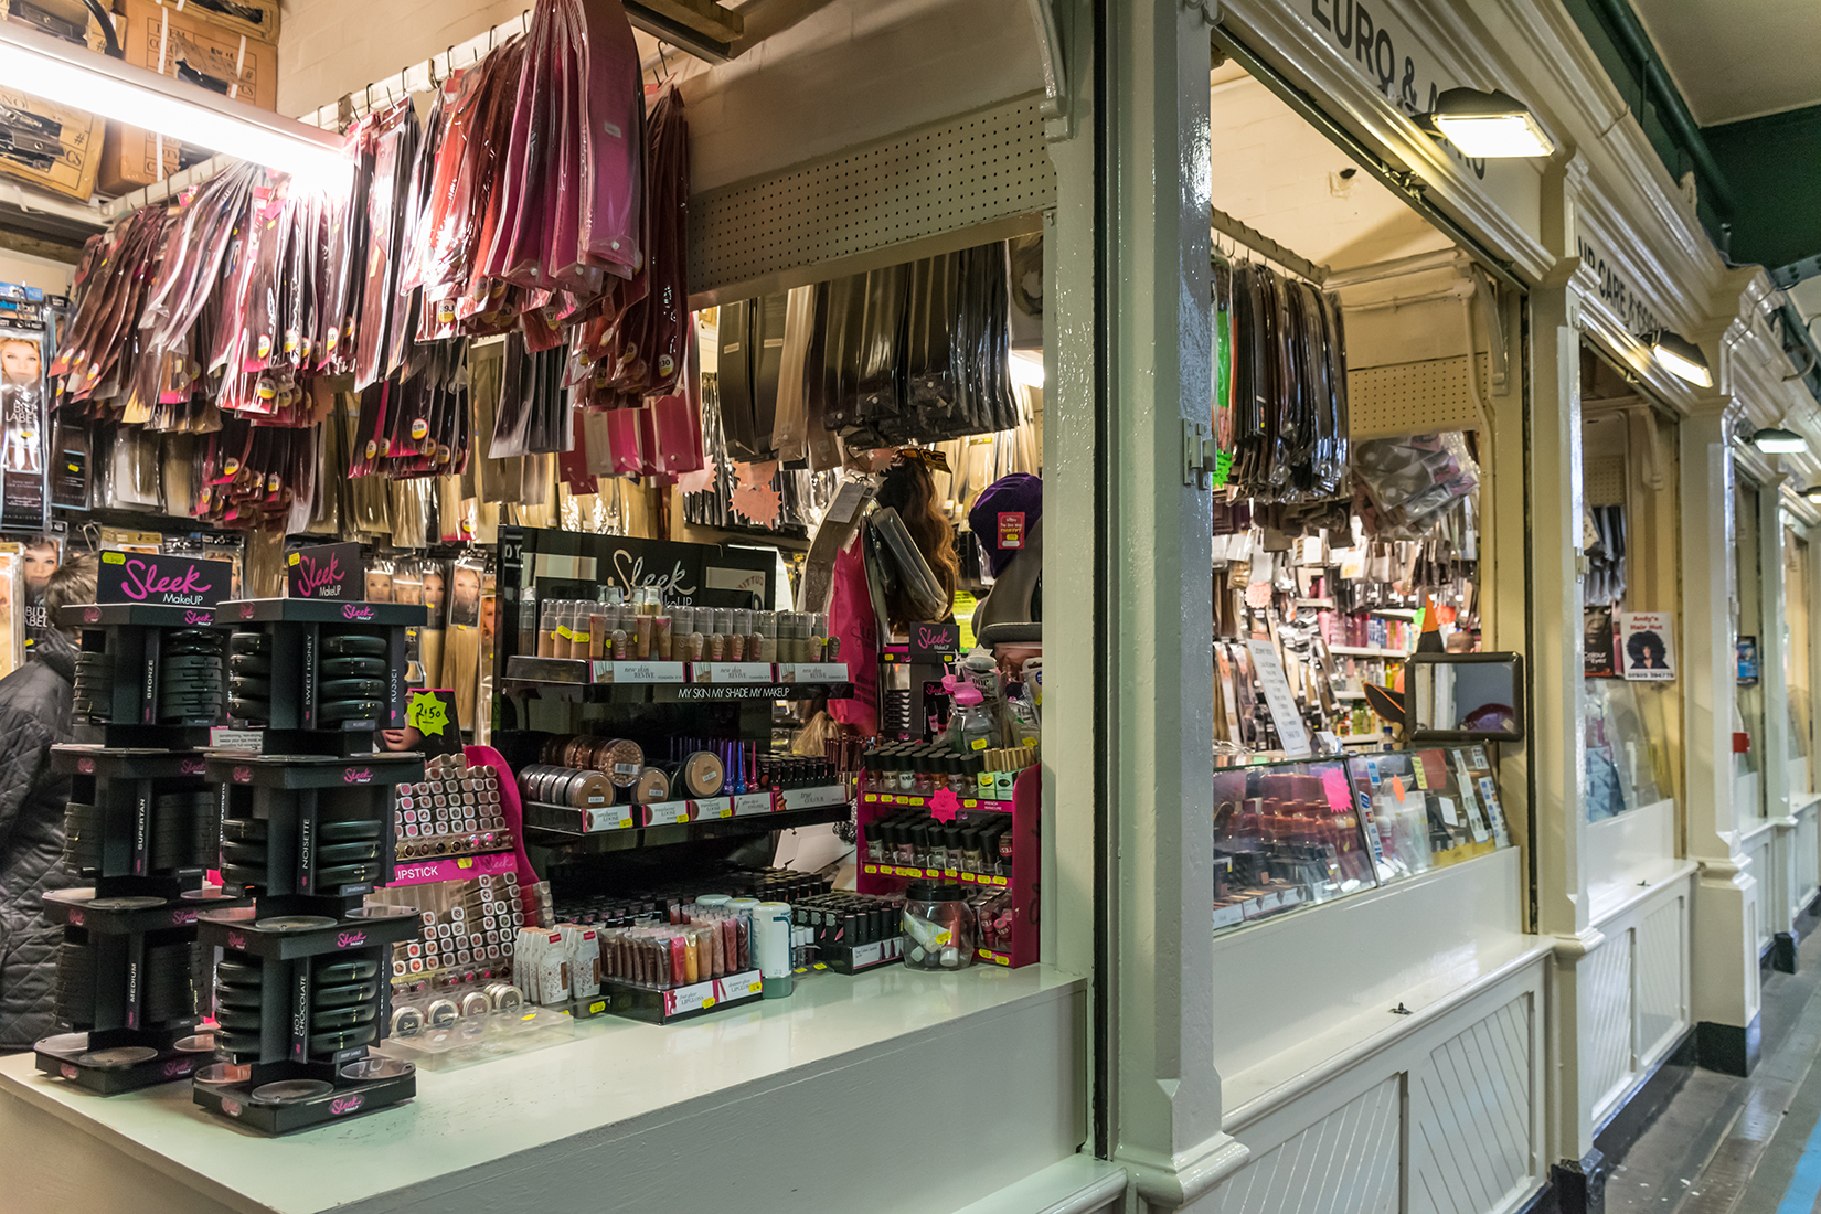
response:
M220 24L213 13L195 2L178 9L175 4L158 4L157 0L122 0L118 7L126 24L120 35L126 62L213 89L260 109L277 107L279 49L270 42ZM277 5L273 4L271 9L273 27L277 27ZM175 138L160 140L157 131L109 122L98 184L102 193L127 193L164 180L206 155L204 149L191 149L186 157L184 146Z

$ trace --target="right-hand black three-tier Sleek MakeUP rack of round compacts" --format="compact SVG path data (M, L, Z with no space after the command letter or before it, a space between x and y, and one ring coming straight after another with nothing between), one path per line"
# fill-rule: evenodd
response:
M226 602L217 619L233 630L229 653L266 659L271 697L266 728L235 739L246 750L208 759L222 877L253 905L198 916L219 1030L193 1099L286 1134L417 1092L415 1067L368 1057L368 1045L386 1032L392 945L413 939L419 917L362 897L395 875L397 784L424 777L421 754L373 750L377 730L404 724L404 632L424 608L259 599ZM359 675L384 692L373 712L326 721L324 663L355 652L384 663Z

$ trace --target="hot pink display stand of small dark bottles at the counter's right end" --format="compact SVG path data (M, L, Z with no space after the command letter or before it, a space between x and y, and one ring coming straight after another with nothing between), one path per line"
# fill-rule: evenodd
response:
M934 797L916 794L860 794L860 872L856 886L861 894L903 895L912 881L940 881L960 885L965 892L1003 890L1005 899L991 899L992 923L982 923L982 941L974 950L978 961L1018 968L1034 965L1040 952L1038 936L1038 895L1036 874L1042 863L1038 854L1038 794L1042 792L1042 768L1025 768L1012 783L1011 801L982 801L976 797L956 797L954 819L951 823L967 826L991 821L992 815L1011 817L1011 868L1002 874L972 874L963 868L927 868L912 859L890 855L890 848L881 850L880 859L872 859L878 825L892 821L938 821L929 817ZM881 841L883 843L883 841ZM1003 865L1002 865L1003 866ZM987 912L982 912L985 919ZM989 946L991 941L991 946Z

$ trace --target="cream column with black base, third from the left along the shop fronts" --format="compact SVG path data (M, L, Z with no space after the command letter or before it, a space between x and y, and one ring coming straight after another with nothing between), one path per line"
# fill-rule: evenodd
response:
M1737 648L1734 595L1732 402L1706 399L1683 419L1683 721L1694 903L1692 1008L1701 1065L1748 1074L1757 1061L1759 886L1739 852L1732 792Z

